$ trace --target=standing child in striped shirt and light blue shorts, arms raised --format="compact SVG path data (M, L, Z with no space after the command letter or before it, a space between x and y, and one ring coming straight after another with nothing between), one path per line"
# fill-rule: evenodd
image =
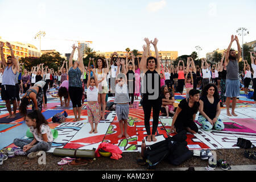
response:
M119 74L120 64L122 64L122 73ZM129 93L127 88L127 77L126 77L126 69L125 69L125 60L117 60L117 76L115 77L115 81L117 84L115 85L115 112L117 113L117 119L119 121L119 127L121 130L118 138L122 138L123 134L125 134L125 138L129 138L130 136L127 133L127 119L129 114ZM124 129L123 129L124 127ZM124 131L123 131L124 130Z

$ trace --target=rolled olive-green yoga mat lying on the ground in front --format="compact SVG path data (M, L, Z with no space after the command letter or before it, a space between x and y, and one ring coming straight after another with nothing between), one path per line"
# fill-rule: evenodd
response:
M57 156L69 156L75 158L94 158L96 149L71 149L71 148L55 148L53 155Z

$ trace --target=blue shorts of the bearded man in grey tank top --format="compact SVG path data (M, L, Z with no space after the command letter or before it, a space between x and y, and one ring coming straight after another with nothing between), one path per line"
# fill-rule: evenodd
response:
M226 97L238 97L240 95L240 81L226 79Z

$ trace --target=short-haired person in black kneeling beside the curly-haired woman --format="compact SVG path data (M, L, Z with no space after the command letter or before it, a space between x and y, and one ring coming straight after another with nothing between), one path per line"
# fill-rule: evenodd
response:
M189 91L189 98L180 101L172 119L171 131L179 133L182 130L187 130L192 134L197 133L198 127L194 121L199 110L199 93L199 90L192 89Z

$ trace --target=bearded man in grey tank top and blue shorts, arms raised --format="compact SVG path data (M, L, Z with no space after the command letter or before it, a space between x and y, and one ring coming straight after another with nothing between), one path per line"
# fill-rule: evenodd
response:
M236 51L231 49L232 43L236 40L238 47L238 55ZM237 36L231 36L229 47L226 51L225 65L226 65L226 114L228 116L237 116L234 112L237 103L237 97L240 94L240 81L238 76L238 60L241 58L242 49ZM232 115L229 113L230 99L232 98Z

